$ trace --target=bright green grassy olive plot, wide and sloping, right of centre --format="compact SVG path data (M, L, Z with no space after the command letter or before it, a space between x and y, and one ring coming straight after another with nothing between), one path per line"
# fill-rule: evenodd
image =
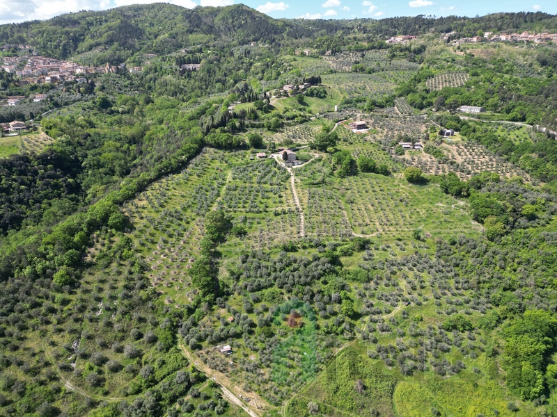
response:
M465 206L438 186L413 186L404 179L362 174L343 179L340 187L356 234L399 238L421 229L444 236L468 234L474 228Z

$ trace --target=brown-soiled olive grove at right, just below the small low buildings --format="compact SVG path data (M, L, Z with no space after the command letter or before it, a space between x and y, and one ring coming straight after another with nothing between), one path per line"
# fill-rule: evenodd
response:
M425 152L407 152L397 158L402 163L419 167L426 174L455 172L461 179L469 179L481 172L495 172L504 178L519 176L531 181L530 175L517 165L496 156L489 149L473 142L455 142L439 146L445 158L437 159Z

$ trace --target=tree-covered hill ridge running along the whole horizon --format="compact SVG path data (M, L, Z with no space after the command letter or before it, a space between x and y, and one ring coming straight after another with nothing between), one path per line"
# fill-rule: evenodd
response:
M0 26L1 44L31 44L39 54L70 58L88 51L119 63L138 52L168 54L211 42L265 42L281 47L292 40L310 45L323 37L331 47L342 31L366 34L368 42L396 34L446 33L476 35L480 31L552 31L557 18L546 13L499 13L484 17L394 17L389 19L311 20L272 19L242 4L193 10L154 3L100 12L70 13L46 21ZM317 38L319 38L317 40Z

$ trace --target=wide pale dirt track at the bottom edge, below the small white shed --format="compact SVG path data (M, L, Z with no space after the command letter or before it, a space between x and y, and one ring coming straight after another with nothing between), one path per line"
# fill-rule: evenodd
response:
M238 407L241 407L247 414L251 417L260 417L262 414L265 413L265 410L272 409L273 407L267 403L267 401L263 400L258 394L256 393L246 393L240 389L239 386L235 386L233 382L228 379L226 375L223 375L217 370L214 370L203 363L201 359L196 357L195 354L192 354L185 348L184 345L180 345L182 349L182 353L190 361L191 364L195 365L196 368L201 370L207 377L212 378L217 384L220 385L223 396L230 402L233 402ZM249 398L252 401L244 402L240 400L240 395L243 398ZM262 404L262 407L260 407Z

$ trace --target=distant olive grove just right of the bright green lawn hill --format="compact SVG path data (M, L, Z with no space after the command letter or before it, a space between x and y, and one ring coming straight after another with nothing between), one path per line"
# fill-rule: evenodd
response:
M338 73L325 74L321 78L323 84L334 86L347 97L382 97L393 94L396 88L395 83L375 74Z

